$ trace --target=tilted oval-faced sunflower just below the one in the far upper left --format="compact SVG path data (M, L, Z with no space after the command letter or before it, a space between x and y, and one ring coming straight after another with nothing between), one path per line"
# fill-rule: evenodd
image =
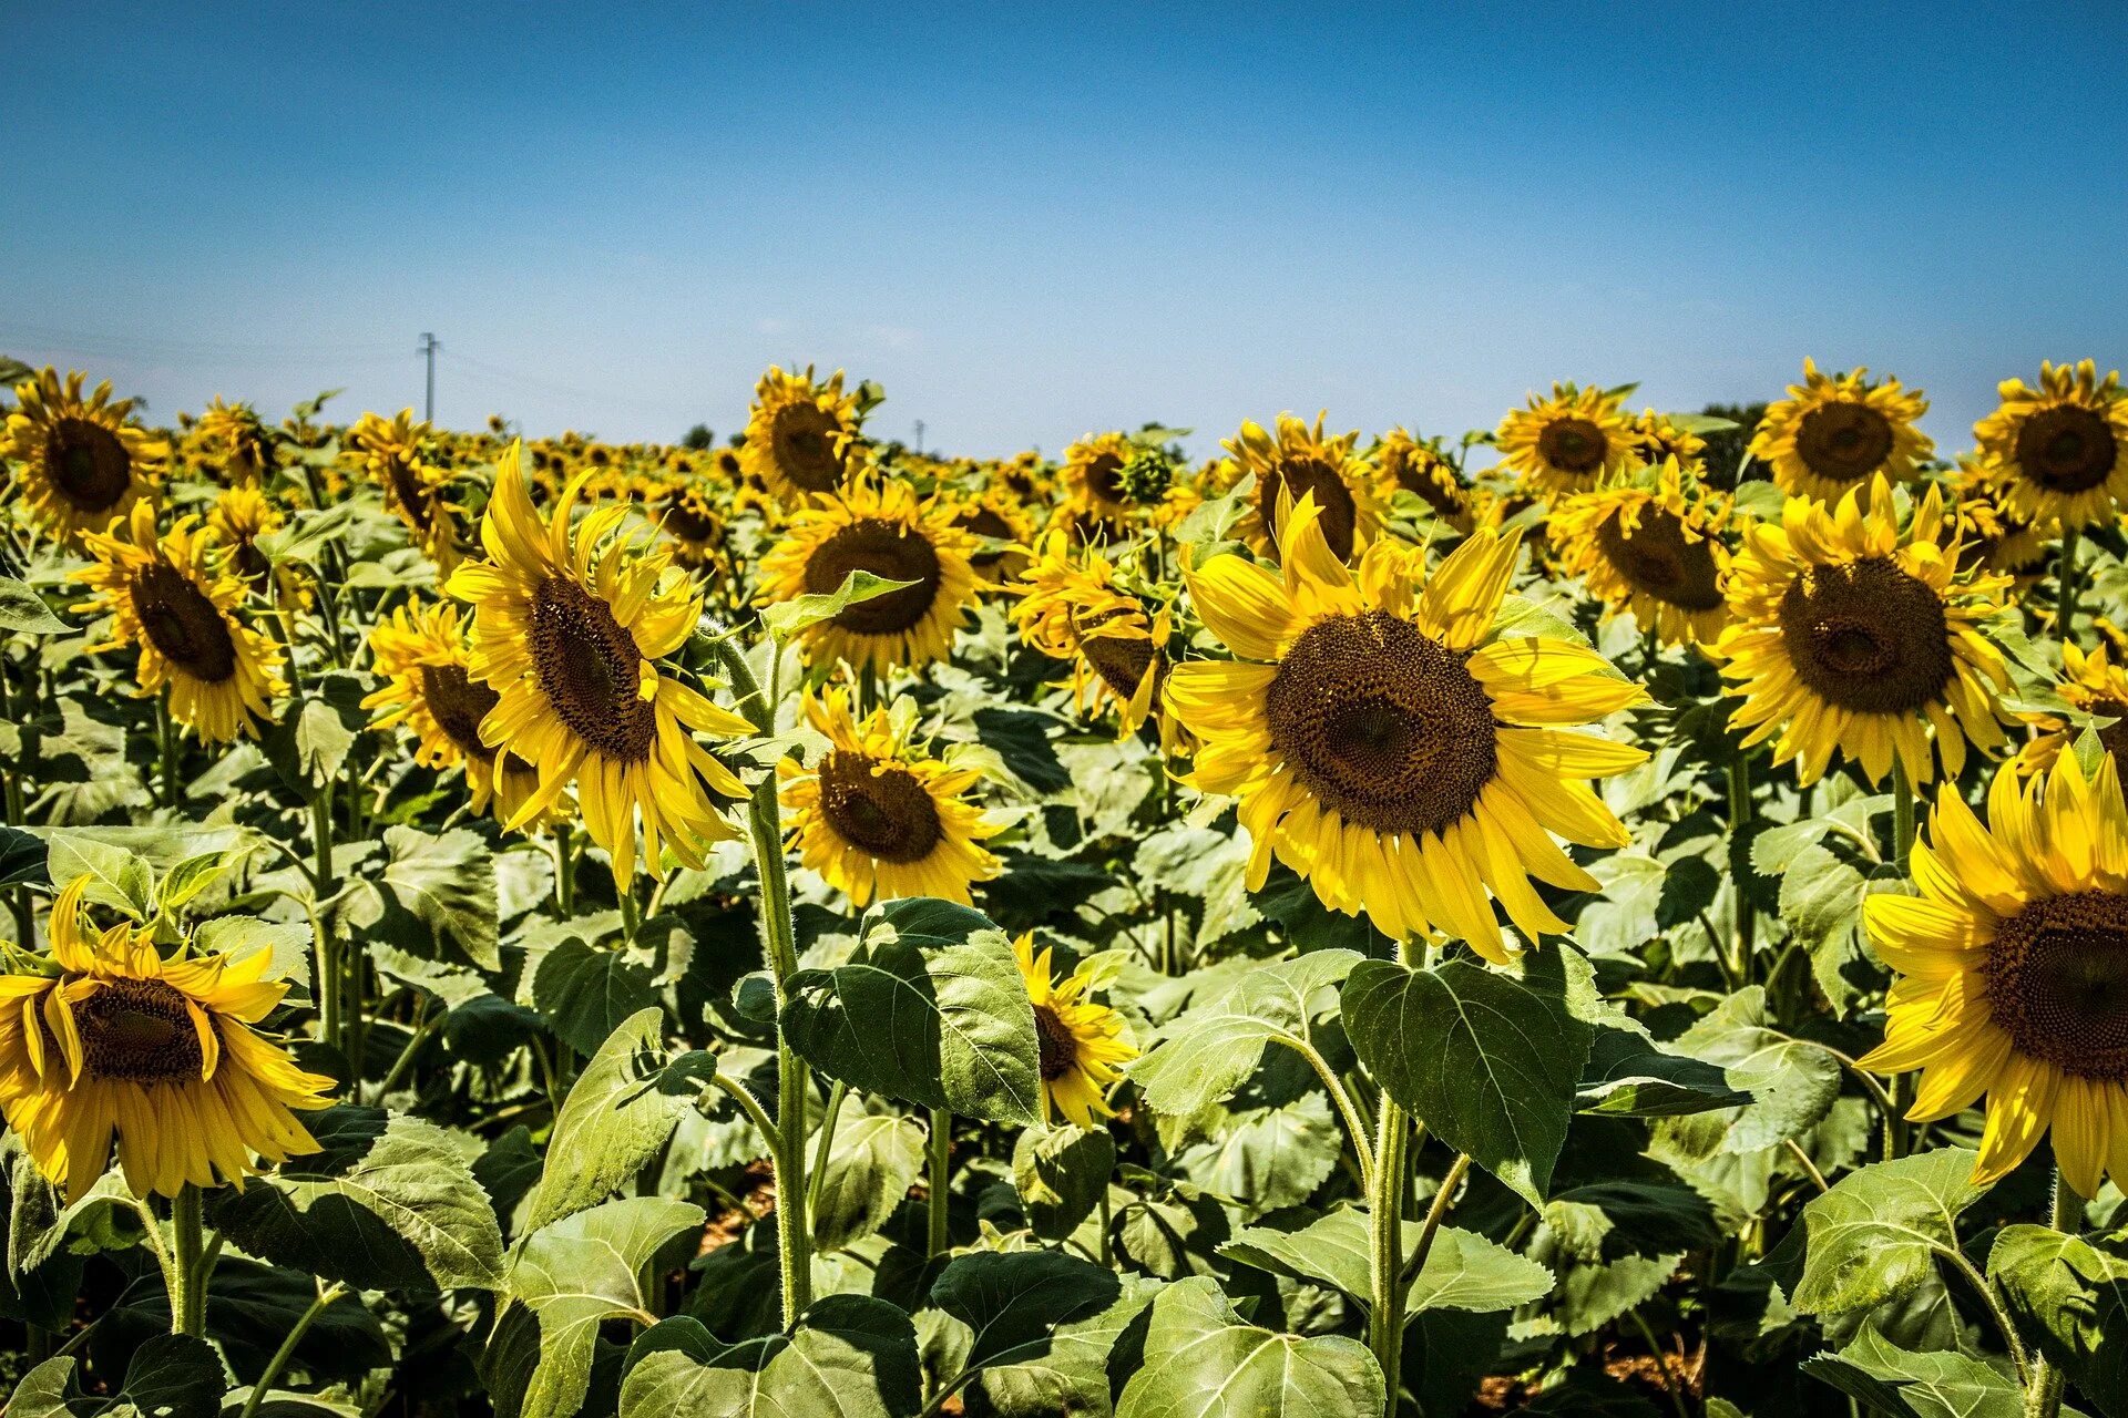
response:
M170 719L209 744L257 738L281 693L281 646L247 627L245 583L217 565L196 517L155 536L155 506L136 502L126 525L89 531L92 563L72 578L96 591L74 610L109 610L111 640L140 648L140 695L170 691Z

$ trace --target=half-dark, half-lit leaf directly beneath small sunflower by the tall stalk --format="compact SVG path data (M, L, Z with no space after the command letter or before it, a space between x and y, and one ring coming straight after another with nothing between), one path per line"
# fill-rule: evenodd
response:
M792 976L783 1033L862 1093L990 1122L1041 1118L1041 1046L1019 961L1004 931L951 901L868 912L847 963Z

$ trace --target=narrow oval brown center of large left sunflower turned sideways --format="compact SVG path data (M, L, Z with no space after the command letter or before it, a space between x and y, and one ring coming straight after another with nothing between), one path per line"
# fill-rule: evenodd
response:
M636 693L643 653L606 602L564 576L543 580L532 597L532 668L553 712L596 753L626 763L651 757L658 710Z

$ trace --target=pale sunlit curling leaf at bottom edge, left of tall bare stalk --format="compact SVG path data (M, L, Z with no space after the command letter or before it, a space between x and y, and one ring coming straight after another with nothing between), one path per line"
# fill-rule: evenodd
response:
M670 1197L628 1197L577 1212L534 1235L511 1263L509 1295L538 1322L536 1352L498 1320L489 1339L489 1386L523 1384L517 1418L570 1418L592 1386L598 1327L647 1318L643 1267L658 1250L702 1225L702 1208ZM500 1392L498 1392L500 1399ZM509 1409L498 1401L498 1412Z

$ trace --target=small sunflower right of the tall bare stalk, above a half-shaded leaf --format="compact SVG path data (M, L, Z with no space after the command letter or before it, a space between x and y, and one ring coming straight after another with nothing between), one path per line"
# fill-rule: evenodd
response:
M1000 872L983 848L1000 827L966 801L977 770L911 746L915 706L902 704L900 714L881 706L858 723L847 689L807 695L807 719L828 750L813 767L792 759L777 765L783 810L792 814L789 846L855 906L898 897L966 904L972 882Z

